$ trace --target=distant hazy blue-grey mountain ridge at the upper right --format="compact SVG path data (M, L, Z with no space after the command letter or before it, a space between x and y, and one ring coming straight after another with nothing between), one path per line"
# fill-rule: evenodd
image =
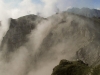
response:
M86 17L100 17L100 10L90 9L90 8L71 8L68 9L67 12L83 15Z

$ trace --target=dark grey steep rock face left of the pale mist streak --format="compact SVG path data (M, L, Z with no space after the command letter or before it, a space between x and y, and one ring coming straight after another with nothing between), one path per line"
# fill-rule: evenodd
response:
M4 44L6 43L7 51L12 52L22 46L28 41L27 35L30 34L33 29L35 29L35 26L42 19L43 18L35 15L11 19L9 30L2 41L1 48L3 48Z

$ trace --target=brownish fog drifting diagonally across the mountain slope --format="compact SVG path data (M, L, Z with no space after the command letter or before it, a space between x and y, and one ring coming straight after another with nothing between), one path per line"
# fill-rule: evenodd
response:
M9 26L8 22L2 25ZM35 26L25 36L28 41L14 51L9 52L9 43L4 43L0 51L0 75L51 75L61 59L77 60L76 52L94 39L90 33L95 30L94 23L68 13L55 14ZM0 31L1 40L7 28Z

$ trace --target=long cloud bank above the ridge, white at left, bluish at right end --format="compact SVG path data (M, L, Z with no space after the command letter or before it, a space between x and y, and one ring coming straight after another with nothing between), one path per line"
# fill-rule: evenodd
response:
M2 21L0 40L8 29L10 17L16 19L38 13L40 13L39 16L49 17L55 14L57 9L66 11L72 7L88 7L89 3L93 5L91 0L40 0L39 3L32 0L0 0L0 21Z

